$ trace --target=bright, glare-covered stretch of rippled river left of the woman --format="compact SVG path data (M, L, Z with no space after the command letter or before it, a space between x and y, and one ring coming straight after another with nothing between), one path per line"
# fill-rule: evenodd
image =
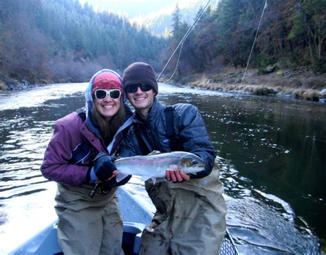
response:
M85 104L84 90L62 84L0 93L0 254L56 219L56 184L39 167L54 121Z

